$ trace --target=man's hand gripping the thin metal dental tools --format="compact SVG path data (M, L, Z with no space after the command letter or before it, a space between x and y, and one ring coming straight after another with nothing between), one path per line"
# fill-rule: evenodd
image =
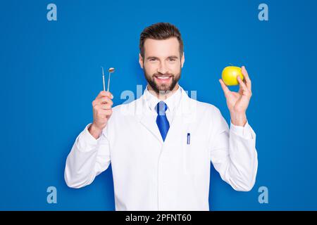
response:
M98 139L102 130L106 127L106 124L112 114L113 102L111 99L113 95L108 91L100 91L94 101L92 101L92 111L94 121L88 128L88 131L95 139Z

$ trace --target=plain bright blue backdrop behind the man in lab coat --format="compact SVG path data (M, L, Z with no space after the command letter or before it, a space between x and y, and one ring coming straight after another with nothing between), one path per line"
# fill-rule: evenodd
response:
M46 6L57 6L57 21ZM269 20L258 19L268 4ZM120 94L145 87L139 34L157 22L182 32L180 84L230 117L218 78L246 65L259 170L252 191L234 191L211 169L211 210L317 210L317 1L1 1L0 210L115 210L111 167L79 190L63 180L76 136L92 122L101 69L116 68ZM56 186L58 203L46 203ZM268 187L268 204L258 189Z

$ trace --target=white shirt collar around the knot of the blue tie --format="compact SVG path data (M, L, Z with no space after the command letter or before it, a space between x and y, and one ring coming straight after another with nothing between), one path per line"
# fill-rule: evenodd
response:
M148 86L144 90L144 96L147 101L147 104L149 105L149 108L151 110L156 111L156 105L157 103L160 102L160 100L159 98L151 94L151 92L148 90ZM170 112L173 112L175 107L178 106L178 103L180 103L181 98L182 98L182 88L180 87L180 85L178 85L178 89L171 96L166 98L166 100L164 101L166 105L168 106L168 110L170 110Z

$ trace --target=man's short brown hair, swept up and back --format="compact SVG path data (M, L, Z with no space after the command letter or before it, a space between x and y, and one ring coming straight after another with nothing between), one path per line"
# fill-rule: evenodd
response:
M139 37L139 52L142 58L144 58L144 41L146 39L165 40L170 37L176 37L180 43L180 57L184 53L184 44L182 43L182 36L180 30L175 25L170 23L155 23L149 27L146 27Z

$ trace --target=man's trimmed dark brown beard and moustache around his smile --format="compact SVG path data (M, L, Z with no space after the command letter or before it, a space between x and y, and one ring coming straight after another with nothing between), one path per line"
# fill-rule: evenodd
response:
M147 70L144 69L144 76L145 79L147 79L147 82L149 86L155 91L156 94L167 94L169 91L172 91L176 84L178 84L178 81L180 80L180 75L182 73L182 68L180 68L180 72L177 75L171 74L171 73L154 73L153 75L149 75L147 73ZM155 77L171 77L172 82L170 84L158 84L155 80Z

